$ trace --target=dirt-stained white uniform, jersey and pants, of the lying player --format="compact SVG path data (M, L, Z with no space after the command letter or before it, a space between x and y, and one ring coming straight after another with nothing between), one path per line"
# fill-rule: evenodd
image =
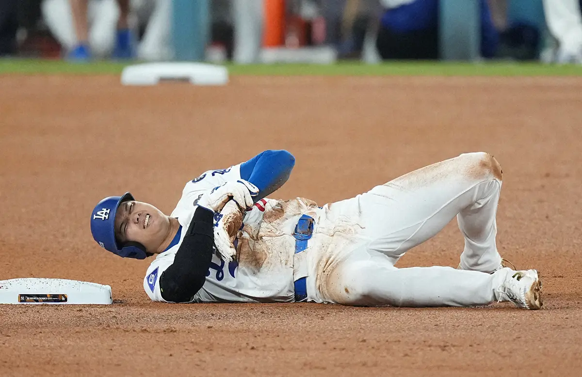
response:
M205 172L186 184L171 216L187 229L200 195L237 179L240 165ZM495 244L501 179L498 162L476 152L323 207L303 198L262 199L244 216L235 241L236 261L225 263L215 253L206 282L192 301L294 301L294 281L305 277L307 300L317 303L490 304L499 300L496 289L508 273L483 273L501 264ZM313 236L296 253L293 232L301 215L314 219ZM455 216L465 239L463 269L394 267L407 250L430 239ZM173 263L183 236L184 231L147 270L144 289L154 301L164 301L159 276Z

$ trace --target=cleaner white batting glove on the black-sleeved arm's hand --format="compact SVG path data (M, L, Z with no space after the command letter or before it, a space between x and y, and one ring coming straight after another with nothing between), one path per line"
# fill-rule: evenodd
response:
M222 186L204 193L198 200L198 205L214 212L220 212L227 202L233 200L240 209L246 210L253 207L253 197L257 196L258 192L257 186L244 179L239 179L236 182L226 182Z

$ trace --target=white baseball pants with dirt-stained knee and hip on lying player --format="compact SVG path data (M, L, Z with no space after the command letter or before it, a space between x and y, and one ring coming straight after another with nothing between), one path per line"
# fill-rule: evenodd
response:
M332 204L331 216L358 214L363 240L318 276L315 301L399 307L497 301L496 288L507 272L485 272L501 264L495 244L501 179L501 167L491 155L463 154ZM460 264L471 271L394 266L406 251L435 236L455 216L464 236Z

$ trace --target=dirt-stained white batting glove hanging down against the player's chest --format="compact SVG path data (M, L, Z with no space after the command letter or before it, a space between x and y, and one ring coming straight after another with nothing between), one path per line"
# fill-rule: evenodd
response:
M243 213L235 201L231 200L221 211L221 218L214 226L214 245L217 247L222 260L232 261L236 257L236 248L233 246L236 234L243 225Z

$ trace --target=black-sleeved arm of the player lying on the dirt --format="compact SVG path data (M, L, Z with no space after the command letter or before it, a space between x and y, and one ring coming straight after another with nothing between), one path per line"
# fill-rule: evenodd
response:
M186 303L202 288L212 260L214 212L198 207L174 262L162 273L159 287L164 300Z

